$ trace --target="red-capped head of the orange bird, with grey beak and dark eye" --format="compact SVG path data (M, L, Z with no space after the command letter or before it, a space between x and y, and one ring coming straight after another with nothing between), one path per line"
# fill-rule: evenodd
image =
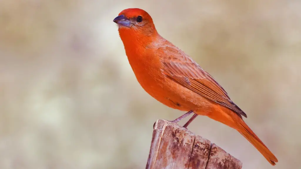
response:
M128 35L143 38L157 34L151 16L139 8L129 8L121 11L113 22L117 23L121 38Z

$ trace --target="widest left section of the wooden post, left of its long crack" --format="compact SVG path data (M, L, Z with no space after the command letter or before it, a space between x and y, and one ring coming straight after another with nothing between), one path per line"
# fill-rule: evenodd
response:
M175 123L158 120L154 125L147 169L187 168L194 144L194 134ZM181 161L180 163L178 161Z

